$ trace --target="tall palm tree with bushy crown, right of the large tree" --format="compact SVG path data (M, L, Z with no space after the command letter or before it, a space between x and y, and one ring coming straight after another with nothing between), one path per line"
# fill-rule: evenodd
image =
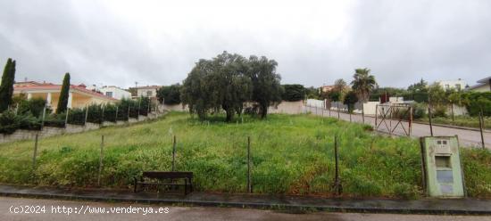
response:
M369 69L356 69L351 82L352 88L361 102L368 102L370 91L377 86L375 77L370 75Z

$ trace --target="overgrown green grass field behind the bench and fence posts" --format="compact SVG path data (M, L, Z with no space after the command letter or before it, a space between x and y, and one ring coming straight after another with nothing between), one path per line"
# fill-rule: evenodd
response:
M151 123L42 139L34 171L33 141L0 144L0 182L96 186L104 135L101 183L130 188L133 176L142 171L171 170L176 135L176 168L194 172L197 191L246 192L250 136L254 192L331 195L338 135L344 196L421 196L417 140L376 135L367 126L311 115L222 121L222 116L201 122L171 112ZM491 197L491 153L462 149L462 164L470 196Z

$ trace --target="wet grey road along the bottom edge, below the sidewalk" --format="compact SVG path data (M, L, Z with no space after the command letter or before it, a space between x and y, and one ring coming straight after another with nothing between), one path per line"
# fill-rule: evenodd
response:
M45 208L45 212L41 208ZM63 209L64 207L64 209ZM24 212L20 213L24 209ZM30 209L33 208L33 209ZM76 214L74 211L84 211L85 208L92 209L93 213ZM134 209L134 213L121 212L122 209ZM165 210L167 208L167 210ZM28 209L29 213L26 213ZM68 212L71 210L71 214ZM94 209L99 212L94 214ZM112 211L112 210L114 211ZM121 209L116 213L116 209ZM140 209L139 212L136 212ZM146 209L146 210L144 210ZM159 211L160 213L149 214L148 211ZM144 215L144 211L147 212ZM168 213L165 213L168 211ZM17 212L17 213L16 213ZM35 213L32 213L35 212ZM37 212L37 213L36 213ZM81 213L81 212L80 212ZM202 207L174 207L165 205L145 205L129 203L102 203L87 201L57 201L0 197L0 220L23 221L23 220L367 220L367 221L416 221L416 220L491 220L484 216L435 216L435 215L398 215L398 214L359 214L359 213L328 213L311 212L304 214L292 214L281 211L260 209L230 209L230 208L202 208Z

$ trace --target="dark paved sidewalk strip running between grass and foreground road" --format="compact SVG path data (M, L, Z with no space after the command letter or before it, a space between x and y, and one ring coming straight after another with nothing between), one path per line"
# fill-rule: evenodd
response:
M340 212L411 213L411 214L478 214L491 215L491 200L478 199L334 199L310 196L221 194L192 192L182 194L68 190L53 187L0 185L0 195L79 201L124 201L137 203L184 204L207 207L254 209L324 210Z

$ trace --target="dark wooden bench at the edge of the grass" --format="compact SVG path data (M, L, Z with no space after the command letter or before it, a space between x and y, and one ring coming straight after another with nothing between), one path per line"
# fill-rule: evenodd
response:
M145 171L143 175L139 177L134 177L135 179L135 189L137 192L138 185L141 187L145 186L156 186L157 188L161 185L167 186L184 186L184 194L187 194L187 188L190 192L193 192L193 172L164 172L164 171ZM184 179L183 183L174 183L173 180Z

